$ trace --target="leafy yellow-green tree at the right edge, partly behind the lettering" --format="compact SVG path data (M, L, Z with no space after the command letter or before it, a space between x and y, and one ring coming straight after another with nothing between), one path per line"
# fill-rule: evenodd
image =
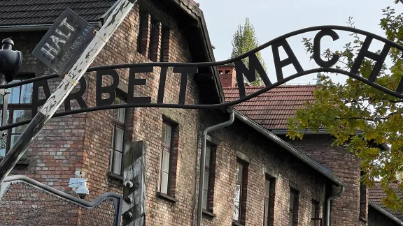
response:
M386 38L402 45L403 14L397 14L390 7L382 11L383 19L379 25ZM351 17L348 24L353 27ZM339 51L325 50L323 58L330 59L333 54L338 54L340 59L336 67L350 70L363 44L360 36L352 36L352 43L346 43ZM312 40L304 38L302 42L306 52L313 54ZM393 47L388 56L390 66L383 64L376 83L395 90L403 75L402 51ZM359 75L368 78L374 64L375 61L365 59ZM373 186L374 181L380 179L381 188L387 194L383 203L394 210L403 211L403 200L389 186L403 172L403 100L351 77L345 84L333 82L328 75L323 75L320 80L323 85L314 92L316 100L304 104L295 117L289 119L288 136L303 139L304 129L317 131L318 128L325 128L335 137L333 145L344 146L358 156L365 172L362 181ZM388 148L382 147L385 145ZM403 183L400 189L403 189Z

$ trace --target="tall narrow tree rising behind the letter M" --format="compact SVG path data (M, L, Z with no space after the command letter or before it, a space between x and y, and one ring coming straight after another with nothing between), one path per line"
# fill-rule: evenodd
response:
M249 52L250 50L253 50L258 46L259 42L257 41L257 38L255 36L255 29L253 28L253 25L250 24L249 18L246 17L245 24L243 24L243 27L239 24L238 30L234 34L234 39L232 40L232 53L230 58L238 57L241 54ZM267 71L267 67L262 59L262 56L260 55L260 52L256 53L256 57L257 59L259 59L260 63L262 63L264 70ZM249 65L248 57L242 59L242 61L248 67ZM243 77L243 81L245 82L245 84L247 83L249 84L248 80L246 80L245 77ZM250 84L253 86L264 85L262 78L258 73L256 74L255 82L250 82Z

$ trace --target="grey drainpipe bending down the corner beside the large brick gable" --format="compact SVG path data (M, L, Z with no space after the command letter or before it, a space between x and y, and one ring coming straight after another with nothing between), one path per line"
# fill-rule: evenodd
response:
M203 185L204 185L204 164L206 163L206 142L207 142L207 133L218 130L220 128L224 128L226 126L230 126L234 122L234 112L232 109L227 109L229 113L229 120L219 123L214 126L210 126L204 129L203 134L201 135L201 153L200 153L200 177L199 177L199 199L197 201L197 226L201 226L201 214L203 211Z

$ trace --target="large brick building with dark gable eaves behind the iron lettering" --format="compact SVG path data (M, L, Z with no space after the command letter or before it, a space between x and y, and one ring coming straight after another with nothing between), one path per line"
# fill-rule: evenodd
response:
M31 52L64 8L69 6L99 27L113 3L0 3L1 38L12 38L15 49L24 54L17 79L51 73ZM142 0L95 59L94 66L214 60L204 16L197 4L188 0ZM136 78L146 79L147 83L136 86L134 96L150 96L155 103L161 70L155 67L151 73L136 74ZM128 70L118 71L115 103L124 103L133 93L129 93ZM82 81L85 83L80 82L73 92L86 86L83 101L94 107L97 75L87 73ZM104 86L113 82L110 76L104 76L102 81ZM60 79L54 79L11 89L7 123L30 119L32 103L46 98L59 82ZM165 82L164 103L178 103L180 74L167 68ZM230 89L225 89L224 95L218 68L199 68L199 73L190 75L187 83L185 103L215 104L231 98ZM234 80L229 84L233 86ZM79 109L80 104L77 100L66 101L60 111L69 108ZM352 156L344 150L331 149L327 144L330 137L325 135L304 144L290 144L280 132L243 112L242 107L235 110L236 119L231 126L208 134L207 160L202 166L206 172L202 200L197 199L201 133L208 126L227 121L229 114L225 110L136 108L57 117L45 126L12 174L27 175L75 195L68 186L69 178L80 171L90 189L87 200L109 191L122 193L122 152L132 142L143 141L147 145L147 225L195 225L199 201L204 207L203 225L319 225L320 220L312 218L324 223L328 207L332 225L358 225L360 171ZM286 116L285 113L281 115ZM23 129L20 126L8 131L0 156L10 149ZM327 151L312 148L318 143ZM316 155L326 159L313 160ZM337 166L329 162L335 158ZM346 158L351 165L341 163ZM327 200L343 187L346 192L327 205Z

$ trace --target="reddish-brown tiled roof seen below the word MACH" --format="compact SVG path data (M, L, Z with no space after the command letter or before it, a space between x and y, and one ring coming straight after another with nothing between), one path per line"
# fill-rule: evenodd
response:
M288 128L288 118L302 104L315 100L316 85L284 85L235 106L235 109L268 130ZM246 86L246 95L263 87ZM224 88L225 101L239 99L238 87Z

